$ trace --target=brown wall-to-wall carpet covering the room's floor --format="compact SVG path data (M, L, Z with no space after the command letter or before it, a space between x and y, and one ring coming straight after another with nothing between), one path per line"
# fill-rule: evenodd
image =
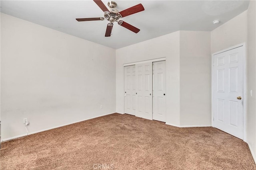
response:
M111 115L2 143L1 170L256 170L248 145L213 127Z

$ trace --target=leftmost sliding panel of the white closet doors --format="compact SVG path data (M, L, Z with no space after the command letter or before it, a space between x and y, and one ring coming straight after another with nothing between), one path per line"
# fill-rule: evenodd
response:
M136 109L135 65L124 67L124 113L135 115Z

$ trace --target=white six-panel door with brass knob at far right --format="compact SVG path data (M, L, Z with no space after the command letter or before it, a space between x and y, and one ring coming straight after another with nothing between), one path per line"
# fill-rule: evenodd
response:
M243 139L243 47L214 55L214 127Z

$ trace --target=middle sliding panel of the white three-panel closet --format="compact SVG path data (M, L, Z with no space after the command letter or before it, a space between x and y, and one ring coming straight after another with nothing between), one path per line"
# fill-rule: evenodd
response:
M136 64L136 116L152 120L152 62Z

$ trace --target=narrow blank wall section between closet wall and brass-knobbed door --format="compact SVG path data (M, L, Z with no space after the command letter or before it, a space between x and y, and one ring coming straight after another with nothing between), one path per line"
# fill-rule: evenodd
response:
M180 31L180 125L211 126L209 31Z

